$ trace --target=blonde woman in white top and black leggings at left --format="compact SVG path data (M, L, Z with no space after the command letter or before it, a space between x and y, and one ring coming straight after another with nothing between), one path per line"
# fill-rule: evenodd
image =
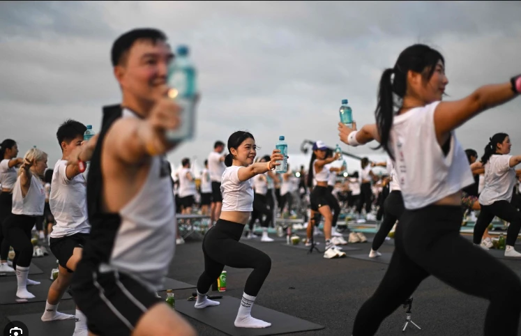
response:
M45 189L38 178L47 168L47 154L38 148L31 148L24 156L24 163L18 171L18 177L13 187L12 213L2 224L3 232L13 249L15 259L13 268L16 270L18 298L34 298L27 291L28 284L40 284L28 280L29 265L33 258L33 244L31 243L31 229L36 216L43 215L45 205Z

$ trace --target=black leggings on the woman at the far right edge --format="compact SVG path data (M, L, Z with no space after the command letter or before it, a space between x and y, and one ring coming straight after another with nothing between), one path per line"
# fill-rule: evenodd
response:
M515 240L518 239L519 230L521 229L521 213L505 200L495 201L490 206L484 206L483 204L480 204L480 206L481 211L474 227L474 244L481 243L485 230L494 219L494 216L497 216L501 220L510 222L508 231L506 231L506 245L515 245Z

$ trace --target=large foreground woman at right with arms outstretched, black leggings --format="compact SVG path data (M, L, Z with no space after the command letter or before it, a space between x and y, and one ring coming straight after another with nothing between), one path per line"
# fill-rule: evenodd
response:
M454 131L517 97L521 75L441 102L447 84L443 56L427 45L412 45L380 79L377 123L359 131L355 123L352 129L338 125L342 142L358 146L376 139L393 158L405 204L391 264L358 312L354 336L374 335L429 275L490 301L485 336L518 334L521 303L513 300L521 295L518 275L460 235L461 190L474 179Z

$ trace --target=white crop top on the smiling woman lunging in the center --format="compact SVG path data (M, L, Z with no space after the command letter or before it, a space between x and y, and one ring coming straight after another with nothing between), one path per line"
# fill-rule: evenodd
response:
M239 181L242 166L226 167L222 173L220 191L222 192L221 211L253 211L253 189L250 180Z

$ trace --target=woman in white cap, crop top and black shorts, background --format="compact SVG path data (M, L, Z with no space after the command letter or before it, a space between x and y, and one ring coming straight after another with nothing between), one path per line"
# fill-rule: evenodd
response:
M311 189L310 194L310 219L306 234L308 239L306 245L310 245L310 239L313 233L313 223L319 224L320 216L324 216L324 236L326 237L326 251L324 258L333 259L346 257L345 252L341 252L331 240L331 224L333 223L333 213L331 213L331 197L333 194L327 190L327 182L329 180L330 171L325 166L340 158L340 153L335 153L331 158L326 158L328 147L324 142L317 141L313 144L313 153L310 160L310 168L308 173L308 187ZM313 186L313 181L316 185Z

